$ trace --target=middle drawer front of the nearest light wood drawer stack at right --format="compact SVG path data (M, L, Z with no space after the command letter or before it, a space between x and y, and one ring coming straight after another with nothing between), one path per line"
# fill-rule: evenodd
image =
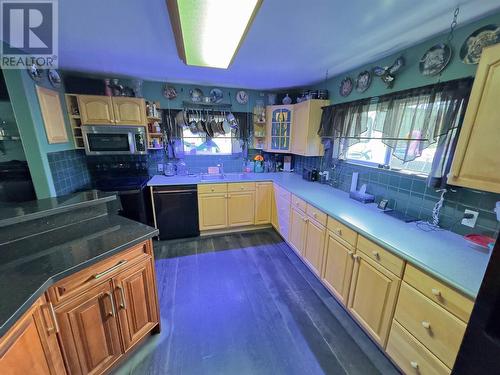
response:
M404 282L394 318L448 368L453 368L465 332L464 322Z

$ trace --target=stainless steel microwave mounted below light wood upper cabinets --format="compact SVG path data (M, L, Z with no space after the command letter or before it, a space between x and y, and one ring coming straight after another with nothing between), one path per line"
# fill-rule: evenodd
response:
M82 126L83 142L87 155L133 155L134 129L115 126Z

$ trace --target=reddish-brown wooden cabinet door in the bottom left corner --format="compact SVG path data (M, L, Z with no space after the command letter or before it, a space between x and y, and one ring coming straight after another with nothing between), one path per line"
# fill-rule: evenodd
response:
M0 341L3 375L65 374L51 306L40 298Z

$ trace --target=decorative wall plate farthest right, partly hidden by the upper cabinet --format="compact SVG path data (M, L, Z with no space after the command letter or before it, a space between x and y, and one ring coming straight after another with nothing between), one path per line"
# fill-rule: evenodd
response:
M465 39L460 48L460 59L465 64L477 64L481 58L483 48L500 42L500 27L486 25L477 29Z

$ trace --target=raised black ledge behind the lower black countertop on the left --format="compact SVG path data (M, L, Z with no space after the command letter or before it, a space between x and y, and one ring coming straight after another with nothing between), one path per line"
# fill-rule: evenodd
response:
M76 208L102 204L115 199L116 195L114 193L89 190L24 203L0 203L0 228L44 216L68 212Z

